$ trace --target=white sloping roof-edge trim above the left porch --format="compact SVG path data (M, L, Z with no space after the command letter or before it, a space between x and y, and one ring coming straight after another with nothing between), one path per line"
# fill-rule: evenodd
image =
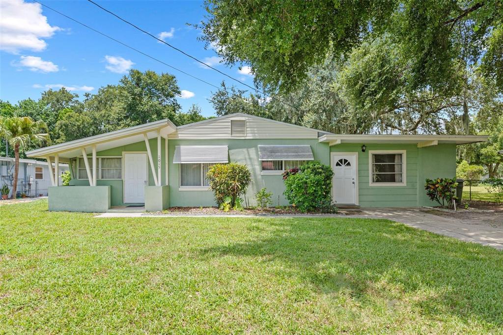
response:
M85 137L74 141L64 142L60 144L55 144L51 146L46 146L40 149L35 149L26 152L28 157L42 157L47 156L49 154L54 154L57 152L64 152L74 149L79 149L81 147L88 147L93 144L100 144L103 142L108 142L111 140L121 139L133 135L141 135L150 131L154 131L156 129L164 128L164 127L173 127L173 129L177 129L177 127L171 122L169 119L163 119L155 122L140 124L138 126L129 127L125 129L115 130L108 133L95 135L91 137Z

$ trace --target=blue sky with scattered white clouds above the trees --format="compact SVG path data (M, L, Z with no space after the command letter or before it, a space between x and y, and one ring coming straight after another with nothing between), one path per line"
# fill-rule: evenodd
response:
M41 0L55 10L110 35L170 65L216 86L225 77L203 68L194 60L159 43L86 1ZM218 63L213 49L205 50L197 40L201 32L187 23L199 23L205 15L201 2L98 1L98 3L166 42L210 62L248 85L253 76L247 67L239 70ZM0 10L0 99L17 103L39 99L48 88L61 85L80 97L95 94L108 84L116 84L129 68L169 72L184 90L179 102L184 111L198 104L205 116L214 115L207 98L216 91L205 83L166 67L106 37L78 25L29 0L2 0ZM159 35L163 33L162 35ZM230 79L225 80L229 85ZM235 82L234 82L235 83ZM236 83L236 85L238 85ZM239 86L239 85L238 85ZM241 89L245 87L240 86Z

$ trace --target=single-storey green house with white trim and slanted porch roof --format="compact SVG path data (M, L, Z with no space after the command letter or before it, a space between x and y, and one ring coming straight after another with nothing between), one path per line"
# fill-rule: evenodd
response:
M486 136L340 135L241 113L177 127L155 121L27 152L47 159L52 176L68 163L71 186L52 178L49 210L105 212L114 206L214 206L211 164L246 164L253 184L287 205L281 174L307 160L333 169L333 200L361 207L433 205L426 178L454 178L456 145Z

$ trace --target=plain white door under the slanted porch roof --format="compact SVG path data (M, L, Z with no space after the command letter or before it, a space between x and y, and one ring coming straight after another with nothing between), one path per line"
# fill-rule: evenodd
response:
M124 202L144 203L147 185L147 155L145 153L124 154Z

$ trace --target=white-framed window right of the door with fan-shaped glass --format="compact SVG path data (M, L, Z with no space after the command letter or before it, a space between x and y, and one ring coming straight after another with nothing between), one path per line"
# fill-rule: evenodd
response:
M405 185L405 150L369 151L370 185Z

